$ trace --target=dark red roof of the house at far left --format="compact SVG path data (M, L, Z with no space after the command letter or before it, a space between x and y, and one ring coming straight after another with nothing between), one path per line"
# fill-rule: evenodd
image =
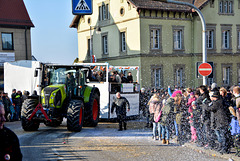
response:
M34 27L23 0L0 0L0 25Z

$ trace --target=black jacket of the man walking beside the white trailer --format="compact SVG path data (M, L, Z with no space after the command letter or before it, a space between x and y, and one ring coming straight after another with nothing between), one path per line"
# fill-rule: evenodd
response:
M112 103L111 113L113 113L115 108L117 115L126 115L127 113L126 109L130 109L130 105L125 97L120 97L114 99Z

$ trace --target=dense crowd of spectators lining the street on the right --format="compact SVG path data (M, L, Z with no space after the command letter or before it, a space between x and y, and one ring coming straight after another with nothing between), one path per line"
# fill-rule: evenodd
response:
M152 138L169 144L187 142L229 153L240 134L240 87L141 89L140 106L153 128ZM239 147L240 148L240 147Z

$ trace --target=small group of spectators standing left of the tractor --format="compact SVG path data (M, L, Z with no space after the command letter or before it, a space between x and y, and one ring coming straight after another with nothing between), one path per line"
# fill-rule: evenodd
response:
M4 105L6 121L19 121L21 118L22 103L28 98L29 92L16 89L12 90L11 97L8 93L0 93L0 102Z

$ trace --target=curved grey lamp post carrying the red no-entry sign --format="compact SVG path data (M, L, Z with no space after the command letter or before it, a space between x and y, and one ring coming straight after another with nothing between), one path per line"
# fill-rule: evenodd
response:
M181 2L181 1L173 1L173 0L155 0L155 1L161 1L161 2L166 2L166 3L175 3L175 4L181 4L181 5L187 5L196 10L198 13L201 22L202 22L202 62L206 63L207 62L207 48L206 48L206 23L205 19L203 17L202 12L193 4L187 3L187 2ZM203 76L203 85L207 85L207 77Z

